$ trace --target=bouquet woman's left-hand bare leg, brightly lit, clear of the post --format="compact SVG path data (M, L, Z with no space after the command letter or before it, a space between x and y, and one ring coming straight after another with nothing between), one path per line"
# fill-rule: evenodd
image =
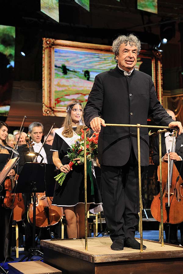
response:
M77 238L77 218L74 206L63 207L66 216L66 227L68 238Z

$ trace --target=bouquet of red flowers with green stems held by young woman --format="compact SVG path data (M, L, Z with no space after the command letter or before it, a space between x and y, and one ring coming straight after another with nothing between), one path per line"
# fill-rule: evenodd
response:
M88 131L89 128L86 130ZM99 133L94 132L91 137L87 137L86 139L86 156L88 161L92 161L97 157L97 144L98 144ZM80 162L84 163L84 130L81 129L80 138L75 141L73 145L71 145L70 150L68 151L67 156L70 158L69 166L72 167L74 164L77 165L77 162L73 159L80 158ZM56 177L56 181L60 185L62 185L65 180L67 173L61 172Z

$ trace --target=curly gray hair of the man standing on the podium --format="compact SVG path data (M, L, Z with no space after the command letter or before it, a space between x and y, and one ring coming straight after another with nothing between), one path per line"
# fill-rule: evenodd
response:
M119 54L119 50L120 50L120 46L121 44L125 44L125 46L127 46L127 43L130 44L130 46L136 46L137 47L137 56L141 50L141 43L140 43L140 40L135 36L133 35L132 33L131 34L128 34L127 36L126 35L120 35L118 36L114 41L113 41L113 45L112 45L112 50L113 50L113 53L114 53L114 61L117 63L118 60L116 59L116 56L118 56Z

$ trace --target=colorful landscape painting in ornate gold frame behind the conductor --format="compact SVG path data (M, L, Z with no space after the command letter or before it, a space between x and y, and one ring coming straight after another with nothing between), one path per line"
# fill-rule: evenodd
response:
M95 76L115 66L111 46L43 38L43 115L65 117L71 100L85 106ZM156 54L141 51L135 69L151 75L161 94Z

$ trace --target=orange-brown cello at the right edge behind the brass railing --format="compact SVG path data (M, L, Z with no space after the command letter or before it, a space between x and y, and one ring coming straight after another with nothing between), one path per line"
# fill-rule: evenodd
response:
M176 134L177 131L175 130L171 152L175 152ZM159 180L160 167L158 167L157 173ZM182 183L182 180L179 179L179 172L174 165L174 160L169 160L168 163L162 162L163 223L177 224L183 221ZM151 204L151 214L154 219L161 222L160 193L154 196Z

